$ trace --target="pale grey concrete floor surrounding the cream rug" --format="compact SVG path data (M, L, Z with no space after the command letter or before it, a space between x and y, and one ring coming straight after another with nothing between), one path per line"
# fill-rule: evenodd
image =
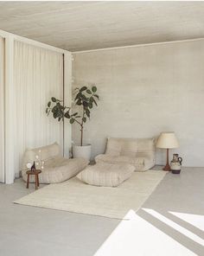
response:
M142 237L143 241L140 242L141 246L145 241L143 252L138 250L133 252L134 247L137 249L137 236L141 237L137 224L136 243L131 245L132 247L128 245L129 250L132 248L129 253L123 253L122 248L120 253L116 253L117 246L113 244L112 236L116 236L123 225L130 225L131 222L16 205L12 202L34 191L34 185L26 189L21 179L17 179L12 185L1 184L0 255L92 256L99 248L96 254L103 256L204 255L203 216L201 216L204 215L203 182L204 168L183 168L181 175L168 173L143 204L143 208L137 212L137 219L139 218L142 225L140 228L146 230L143 225L147 225L154 230L154 233L151 234L148 230L142 231L143 236L145 232L148 233L147 237ZM169 212L194 217L193 220L188 221L185 219L186 215L182 218ZM133 226L131 225L131 228ZM159 236L156 239L157 234L161 235L163 241L160 242ZM128 240L129 235L131 234L125 234L123 240ZM119 243L117 237L115 240L118 240L118 246L125 244ZM108 241L109 244L111 243L112 252ZM152 245L147 246L150 241ZM175 241L175 247L171 246L172 241ZM104 242L105 246L102 246ZM156 243L160 243L160 246ZM165 249L168 245L173 254ZM152 249L151 246L153 246ZM178 246L181 246L181 251ZM148 253L150 249L151 253ZM188 253L181 253L185 252L184 249ZM166 250L165 254L163 250Z

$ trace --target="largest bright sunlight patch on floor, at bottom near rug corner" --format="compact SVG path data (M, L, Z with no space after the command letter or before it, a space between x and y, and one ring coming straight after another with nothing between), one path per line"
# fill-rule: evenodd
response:
M196 255L133 210L125 217L130 221L121 221L94 256Z

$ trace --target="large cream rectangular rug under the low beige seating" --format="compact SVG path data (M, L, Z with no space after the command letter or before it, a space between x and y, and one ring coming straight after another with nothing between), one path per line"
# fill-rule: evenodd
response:
M15 203L124 219L130 209L137 211L143 205L165 174L162 170L135 172L117 188L91 186L73 177L38 189Z

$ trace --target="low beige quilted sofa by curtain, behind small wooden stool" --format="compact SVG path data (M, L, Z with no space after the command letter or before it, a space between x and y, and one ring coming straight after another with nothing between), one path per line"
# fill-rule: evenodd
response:
M39 153L39 150L41 150L41 153ZM41 170L39 175L40 183L64 182L77 175L89 163L84 158L68 159L61 157L61 149L57 143L33 150L26 150L22 160L22 178L24 181L27 180L26 171L28 168L26 164L33 163L36 155L40 155L41 161L45 162L44 169ZM30 176L30 182L34 182L34 176Z

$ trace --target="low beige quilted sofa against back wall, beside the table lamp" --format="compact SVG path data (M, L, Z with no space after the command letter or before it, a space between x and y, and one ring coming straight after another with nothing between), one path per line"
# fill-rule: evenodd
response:
M108 138L105 154L96 163L130 163L136 171L150 170L155 165L155 138Z

